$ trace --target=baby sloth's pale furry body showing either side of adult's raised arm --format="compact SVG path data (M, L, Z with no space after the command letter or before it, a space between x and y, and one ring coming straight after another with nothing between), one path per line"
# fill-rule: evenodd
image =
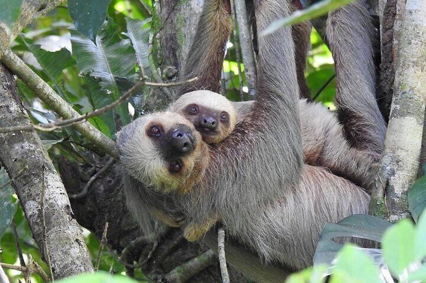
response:
M254 101L234 102L237 123L252 110ZM299 100L304 163L328 168L333 174L370 191L376 176L377 155L352 147L335 113L319 103Z

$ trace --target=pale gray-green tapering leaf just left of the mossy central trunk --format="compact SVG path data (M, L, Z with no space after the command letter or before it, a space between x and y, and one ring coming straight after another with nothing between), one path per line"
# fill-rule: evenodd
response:
M133 20L126 18L127 34L126 36L132 41L133 48L135 49L136 59L138 60L139 66L142 66L144 75L150 76L151 69L149 67L149 35L150 30L142 28L147 24L151 23L151 19L144 21Z

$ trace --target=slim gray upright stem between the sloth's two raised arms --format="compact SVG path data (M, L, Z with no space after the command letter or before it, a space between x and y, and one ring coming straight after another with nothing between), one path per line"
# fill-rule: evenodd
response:
M237 15L238 31L240 34L241 55L245 67L246 82L249 88L249 100L254 100L257 92L256 63L247 19L246 2L235 0L235 14ZM231 6L232 8L232 6Z

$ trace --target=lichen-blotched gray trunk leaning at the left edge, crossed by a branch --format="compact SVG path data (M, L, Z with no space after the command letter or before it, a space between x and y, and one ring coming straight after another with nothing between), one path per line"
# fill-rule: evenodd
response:
M31 123L15 80L0 65L0 127ZM93 270L81 228L68 196L36 132L0 134L0 161L30 224L33 237L53 276L63 278Z

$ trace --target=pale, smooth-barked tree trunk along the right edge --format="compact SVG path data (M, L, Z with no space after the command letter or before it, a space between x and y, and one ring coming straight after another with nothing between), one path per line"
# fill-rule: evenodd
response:
M383 216L392 222L409 216L407 193L417 177L419 165L426 105L424 19L426 3L408 0L400 30L394 95L379 171L380 185L386 186L387 215ZM379 189L373 197L378 202L383 201L383 191Z

